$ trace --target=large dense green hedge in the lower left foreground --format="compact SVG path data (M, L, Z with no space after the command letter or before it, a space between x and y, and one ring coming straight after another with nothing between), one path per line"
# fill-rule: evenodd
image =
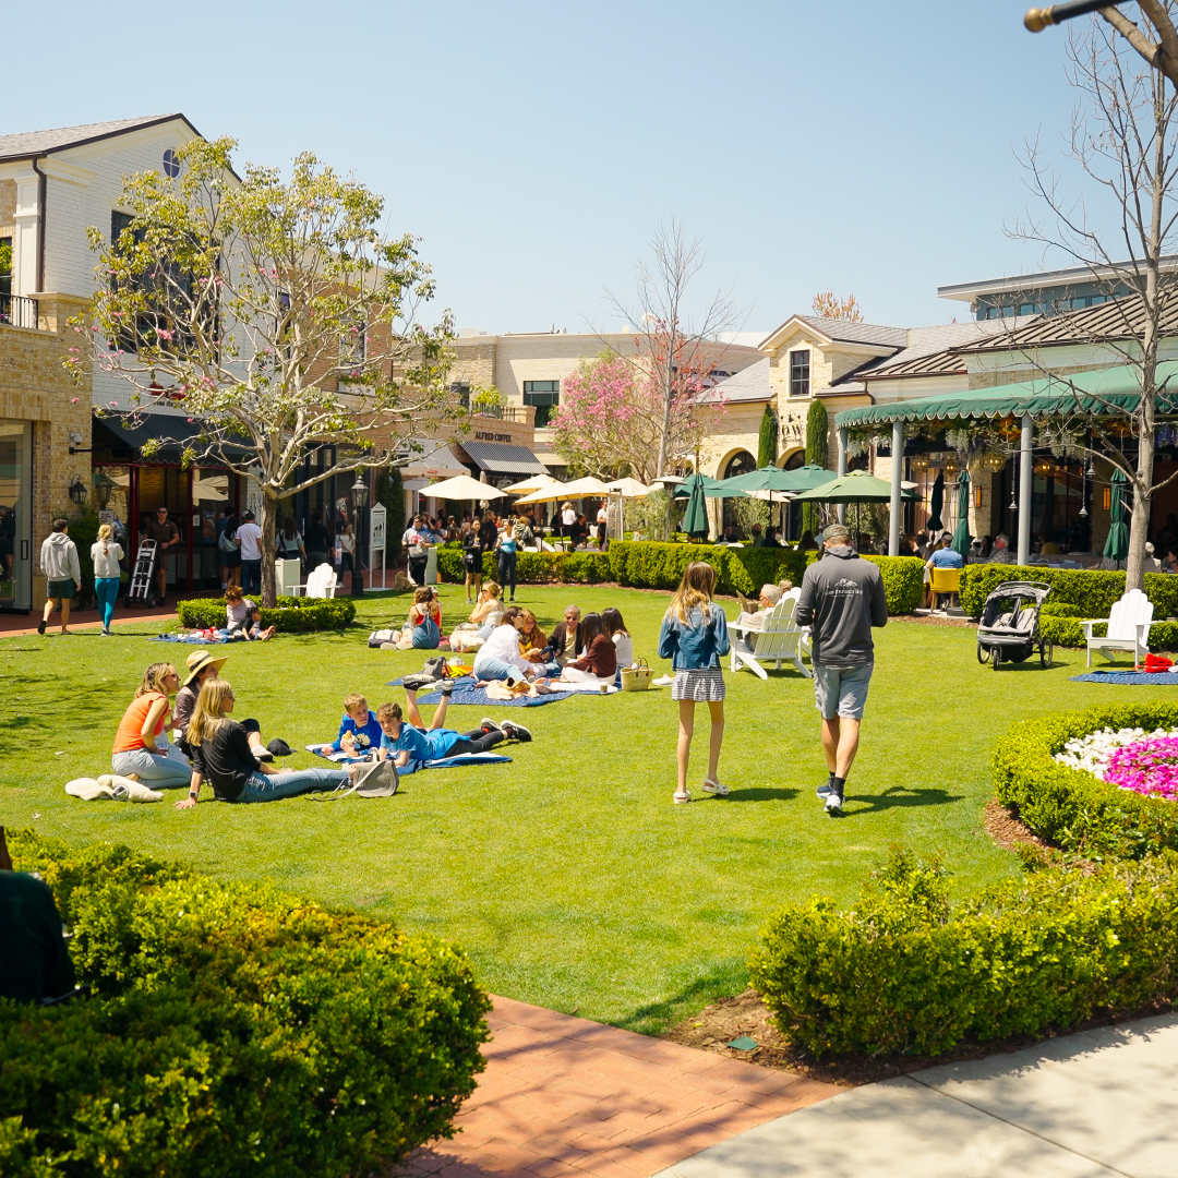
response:
M0 1172L345 1178L452 1136L490 1002L451 946L126 847L12 849L93 993L0 1001Z

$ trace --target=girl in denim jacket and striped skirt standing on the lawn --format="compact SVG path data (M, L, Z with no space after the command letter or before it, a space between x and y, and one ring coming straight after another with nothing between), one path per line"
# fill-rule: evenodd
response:
M716 776L720 746L724 740L724 677L721 655L728 654L728 621L713 604L716 570L704 561L693 561L683 571L670 608L659 631L659 657L670 659L675 684L670 697L679 701L679 788L674 801L689 802L687 766L695 730L695 704L707 703L712 712L712 742L708 747L708 775L703 792L723 796L728 787Z

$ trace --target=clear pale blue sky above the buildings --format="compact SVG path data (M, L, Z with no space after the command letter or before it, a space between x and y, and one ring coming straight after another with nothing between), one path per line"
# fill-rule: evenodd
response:
M1015 151L1061 146L1059 29L1026 0L13 5L0 133L183 111L239 159L310 150L422 237L459 326L608 326L661 221L746 327L854 291L947 322L947 283L1038 269ZM59 33L61 35L59 35ZM1059 258L1048 258L1061 264Z

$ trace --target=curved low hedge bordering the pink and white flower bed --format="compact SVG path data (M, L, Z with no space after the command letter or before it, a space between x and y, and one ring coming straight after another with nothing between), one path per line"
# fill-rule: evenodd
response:
M1014 724L994 750L994 793L1044 839L1088 859L1178 851L1178 803L1107 785L1053 760L1067 741L1100 728L1178 728L1178 704L1124 703L1060 712Z

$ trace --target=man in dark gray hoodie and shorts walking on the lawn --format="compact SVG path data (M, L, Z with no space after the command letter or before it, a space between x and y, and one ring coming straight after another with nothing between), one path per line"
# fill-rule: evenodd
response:
M830 774L818 795L826 799L827 814L839 818L875 669L872 627L887 624L887 597L879 568L860 558L842 524L827 528L822 541L822 558L802 577L794 618L809 626L813 636L814 697L822 713L822 752Z

